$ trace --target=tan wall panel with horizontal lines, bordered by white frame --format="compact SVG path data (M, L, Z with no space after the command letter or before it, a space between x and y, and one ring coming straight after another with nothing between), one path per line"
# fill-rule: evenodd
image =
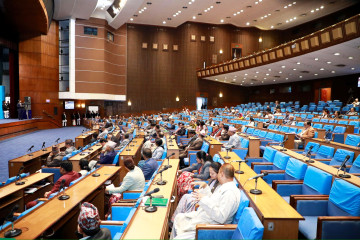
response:
M98 35L84 34L94 27ZM107 32L114 41L107 40ZM115 30L106 20L77 19L75 23L75 92L126 94L126 26Z

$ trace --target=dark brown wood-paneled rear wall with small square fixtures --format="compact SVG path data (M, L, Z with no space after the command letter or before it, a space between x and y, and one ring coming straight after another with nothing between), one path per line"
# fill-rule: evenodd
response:
M191 35L195 35L195 41L191 41ZM205 41L201 41L201 36L205 36ZM209 41L210 36L214 42ZM267 39L266 44L259 44L259 36ZM195 107L196 92L208 93L209 107L213 99L218 106L242 103L244 88L197 80L196 69L204 62L212 64L213 57L217 63L231 59L231 43L242 44L243 54L250 54L280 42L277 31L192 22L178 28L129 24L127 37L127 98L132 106L124 110L131 112ZM147 43L147 48L142 48L143 43ZM158 49L153 49L154 43ZM167 51L163 44L168 44ZM179 46L178 51L173 50L173 45ZM223 98L216 99L220 89ZM179 102L175 101L177 96Z

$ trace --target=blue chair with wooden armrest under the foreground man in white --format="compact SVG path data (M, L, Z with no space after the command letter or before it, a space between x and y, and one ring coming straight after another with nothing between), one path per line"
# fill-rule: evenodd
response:
M203 225L196 226L197 239L262 239L264 226L253 208L244 209L238 225Z

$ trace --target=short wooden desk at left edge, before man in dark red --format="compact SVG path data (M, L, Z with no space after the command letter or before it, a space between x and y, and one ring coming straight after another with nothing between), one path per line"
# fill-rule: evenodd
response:
M25 189L28 187L35 187L40 181L45 180L50 182L46 186L37 187L38 190L32 194L26 194ZM11 209L18 204L18 212L25 210L25 204L29 201L33 201L39 197L43 197L45 192L50 191L53 187L54 174L53 173L34 173L28 177L23 178L25 184L16 185L10 183L0 188L0 222L2 222L5 216L7 216Z

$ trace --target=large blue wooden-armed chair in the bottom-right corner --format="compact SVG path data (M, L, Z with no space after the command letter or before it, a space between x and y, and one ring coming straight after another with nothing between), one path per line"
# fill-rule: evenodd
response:
M329 196L292 197L292 206L305 217L299 231L307 239L358 239L360 188L335 179Z

